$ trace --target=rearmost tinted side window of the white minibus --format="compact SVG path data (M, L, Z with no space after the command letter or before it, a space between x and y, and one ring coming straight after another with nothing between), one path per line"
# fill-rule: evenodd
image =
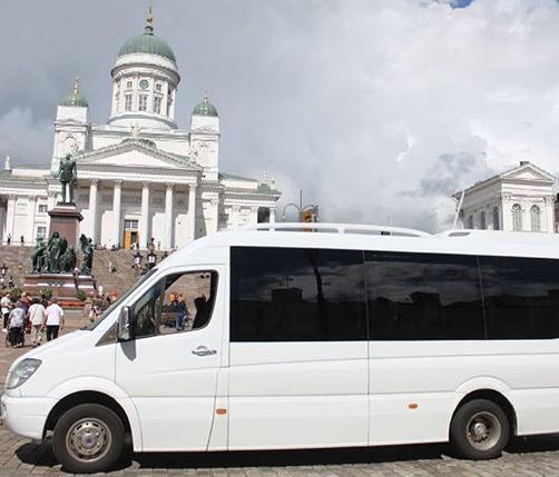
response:
M480 257L490 339L559 338L559 260Z

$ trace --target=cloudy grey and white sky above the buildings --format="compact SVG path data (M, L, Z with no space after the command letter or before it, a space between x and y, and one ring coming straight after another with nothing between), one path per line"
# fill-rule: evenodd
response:
M449 227L449 195L519 160L559 173L556 0L159 0L179 127L209 91L224 171L322 219ZM47 165L79 74L95 122L147 0L0 6L0 156Z

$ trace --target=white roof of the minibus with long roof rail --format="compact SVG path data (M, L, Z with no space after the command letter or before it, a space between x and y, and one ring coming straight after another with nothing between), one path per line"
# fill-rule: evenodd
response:
M290 247L559 258L559 235L497 230L420 230L347 223L258 223L205 236L169 256L166 265L208 247ZM175 264L177 261L177 264Z

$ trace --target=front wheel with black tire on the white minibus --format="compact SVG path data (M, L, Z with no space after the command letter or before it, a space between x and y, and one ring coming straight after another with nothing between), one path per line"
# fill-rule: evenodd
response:
M58 419L52 453L63 470L90 474L110 469L122 454L124 443L122 421L111 409L98 404L81 404Z

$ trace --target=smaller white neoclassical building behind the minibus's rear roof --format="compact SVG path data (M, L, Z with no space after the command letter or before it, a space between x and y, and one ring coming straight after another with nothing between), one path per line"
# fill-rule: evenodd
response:
M553 185L557 179L529 161L477 182L463 191L459 227L465 229L556 230ZM460 205L462 191L452 197Z

